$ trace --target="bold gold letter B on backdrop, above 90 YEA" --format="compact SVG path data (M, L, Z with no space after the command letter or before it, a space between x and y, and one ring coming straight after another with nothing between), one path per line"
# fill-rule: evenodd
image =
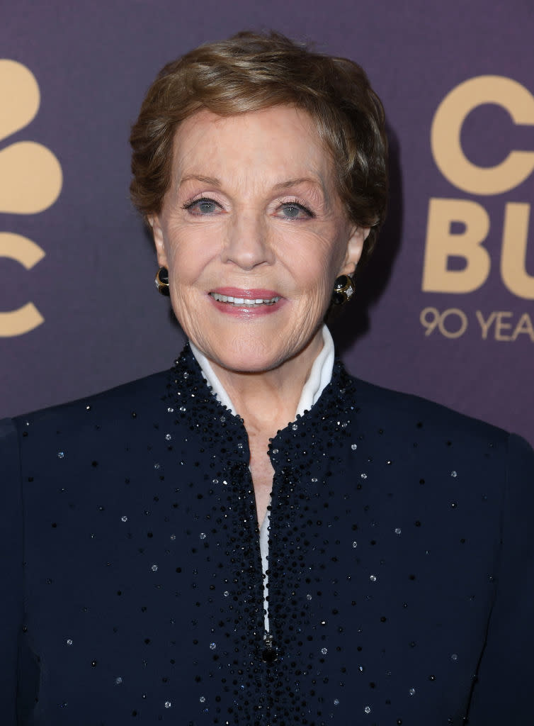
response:
M451 234L451 224L464 224L464 232ZM424 252L423 290L432 293L471 293L490 274L490 256L482 247L490 219L485 209L465 199L430 199L427 244ZM464 258L462 270L448 269L449 257Z

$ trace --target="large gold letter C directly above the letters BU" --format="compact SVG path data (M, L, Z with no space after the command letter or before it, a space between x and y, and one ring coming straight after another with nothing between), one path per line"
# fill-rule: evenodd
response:
M477 76L460 83L438 106L430 130L432 154L445 179L471 194L501 194L519 186L534 170L534 152L511 151L497 166L472 164L461 148L461 127L477 106L495 103L514 123L534 126L534 96L504 76Z

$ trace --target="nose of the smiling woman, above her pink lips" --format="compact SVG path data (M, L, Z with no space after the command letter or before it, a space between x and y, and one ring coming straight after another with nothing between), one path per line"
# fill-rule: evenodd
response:
M266 222L260 216L252 215L234 219L227 229L222 254L223 262L235 264L243 270L273 264L274 253Z

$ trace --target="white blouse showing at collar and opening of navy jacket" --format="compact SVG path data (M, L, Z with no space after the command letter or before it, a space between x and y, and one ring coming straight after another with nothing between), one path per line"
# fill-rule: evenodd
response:
M305 411L311 409L313 404L315 404L319 400L319 397L321 396L324 388L328 386L330 380L332 379L332 370L334 367L334 341L332 340L332 335L330 335L330 331L328 330L326 325L323 325L322 333L323 347L321 348L319 355L313 361L310 375L308 375L308 378L303 386L303 391L300 394L300 401L298 402L297 410L295 412L295 418L297 416L303 416ZM215 371L213 370L213 367L210 364L208 358L206 358L206 356L200 352L200 350L197 348L197 346L194 345L194 343L191 342L191 340L189 340L189 345L191 346L194 357L197 359L197 362L200 365L202 375L211 386L211 390L214 396L218 399L218 401L220 401L221 404L223 404L223 406L226 406L226 408L229 409L232 414L238 415L239 412L235 410L234 404L232 404L230 396L224 390L221 381L217 378L217 375L215 375ZM261 566L263 569L263 600L265 603L266 632L269 632L269 616L267 604L268 600L266 599L268 595L268 530L269 510L267 510L265 518L263 518L263 522L260 525L260 552Z

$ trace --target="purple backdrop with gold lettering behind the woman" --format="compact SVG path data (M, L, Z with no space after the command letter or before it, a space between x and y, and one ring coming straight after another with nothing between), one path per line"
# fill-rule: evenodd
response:
M390 217L335 330L349 369L534 441L530 2L19 0L1 15L0 417L172 362L183 339L128 200L129 126L164 62L276 28L361 62L387 110ZM20 213L17 189L36 207L58 184L46 149L59 197Z

